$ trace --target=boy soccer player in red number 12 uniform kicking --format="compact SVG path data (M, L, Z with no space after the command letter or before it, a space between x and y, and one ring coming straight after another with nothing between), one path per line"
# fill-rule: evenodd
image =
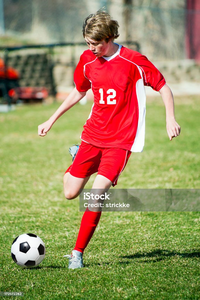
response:
M114 43L118 22L102 10L84 20L84 51L74 72L76 87L49 118L38 126L45 136L55 121L92 88L94 104L84 125L81 145L64 175L64 195L74 199L93 173L92 185L100 194L117 184L132 152L142 152L145 140L145 88L159 91L166 108L169 139L180 134L173 95L163 75L139 52ZM73 154L74 156L74 154ZM98 193L98 192L97 192ZM82 268L82 254L97 227L101 211L86 209L68 268Z

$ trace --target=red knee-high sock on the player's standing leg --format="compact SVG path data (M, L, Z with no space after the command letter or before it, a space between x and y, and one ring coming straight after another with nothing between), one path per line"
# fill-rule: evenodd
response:
M81 220L78 238L74 250L84 252L91 237L99 223L101 211L90 211L88 208L84 212Z

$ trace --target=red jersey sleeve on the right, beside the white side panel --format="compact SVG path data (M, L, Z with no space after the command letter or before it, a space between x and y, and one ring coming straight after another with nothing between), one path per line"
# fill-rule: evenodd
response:
M166 84L163 74L152 64L145 55L138 53L137 64L142 69L144 85L151 86L155 91L160 89Z

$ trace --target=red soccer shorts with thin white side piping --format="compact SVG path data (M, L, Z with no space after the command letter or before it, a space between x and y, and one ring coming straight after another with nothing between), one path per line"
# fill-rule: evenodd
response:
M67 169L72 176L88 177L96 172L117 184L117 179L124 170L131 151L120 148L102 148L81 142L72 165Z

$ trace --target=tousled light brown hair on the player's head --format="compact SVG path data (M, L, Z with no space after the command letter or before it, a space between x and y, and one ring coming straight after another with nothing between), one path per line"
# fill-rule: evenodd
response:
M98 10L96 13L92 13L83 22L83 36L91 38L94 41L114 41L118 38L119 24L117 21L112 20L109 13Z

